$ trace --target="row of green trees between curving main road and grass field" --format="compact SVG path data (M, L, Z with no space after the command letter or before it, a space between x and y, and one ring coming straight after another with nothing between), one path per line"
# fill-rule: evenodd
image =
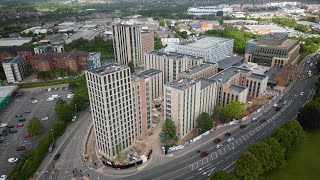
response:
M291 154L303 143L305 132L296 120L288 121L272 131L271 136L253 144L247 152L241 154L235 163L235 174L218 171L211 180L252 179L281 168Z

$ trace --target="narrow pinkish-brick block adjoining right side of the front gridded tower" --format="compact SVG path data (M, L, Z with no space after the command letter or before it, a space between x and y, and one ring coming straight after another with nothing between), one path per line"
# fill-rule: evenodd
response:
M134 96L138 138L143 139L151 129L152 100L162 97L162 72L155 69L134 73Z

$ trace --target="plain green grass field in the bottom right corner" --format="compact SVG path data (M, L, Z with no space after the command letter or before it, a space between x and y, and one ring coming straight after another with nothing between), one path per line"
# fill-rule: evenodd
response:
M264 180L318 180L320 179L320 131L308 132L301 150L292 155L288 164Z

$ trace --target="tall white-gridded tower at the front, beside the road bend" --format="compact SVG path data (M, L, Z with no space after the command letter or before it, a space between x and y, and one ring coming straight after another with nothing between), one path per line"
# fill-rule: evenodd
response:
M130 68L110 63L86 71L97 151L108 159L137 139L134 85Z

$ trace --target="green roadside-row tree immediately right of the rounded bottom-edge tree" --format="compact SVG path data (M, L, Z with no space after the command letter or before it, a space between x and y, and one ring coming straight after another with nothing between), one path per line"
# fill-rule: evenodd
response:
M272 169L282 167L285 163L285 150L278 142L278 140L273 137L268 137L263 142L268 144L271 148L272 153L270 154L270 161L272 164Z

